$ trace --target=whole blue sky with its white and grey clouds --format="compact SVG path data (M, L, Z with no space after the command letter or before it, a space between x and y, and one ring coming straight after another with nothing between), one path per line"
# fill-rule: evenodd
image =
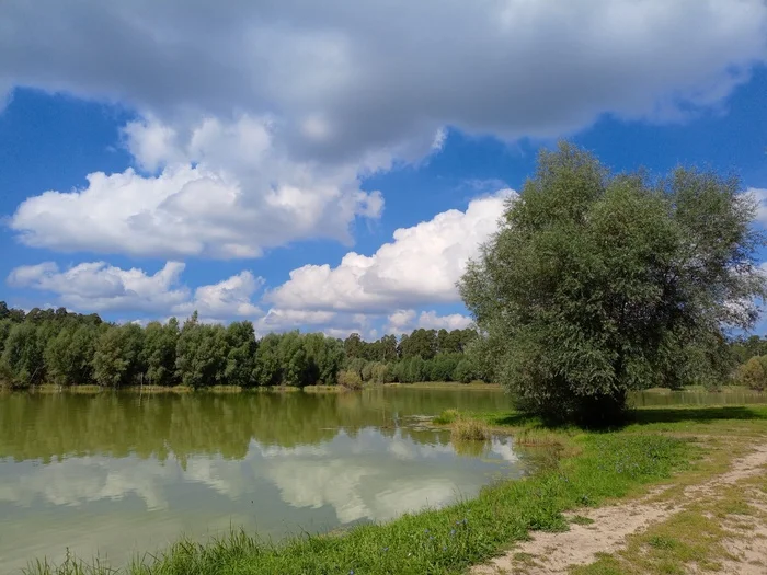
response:
M466 327L456 281L561 138L767 200L767 3L4 0L0 300Z

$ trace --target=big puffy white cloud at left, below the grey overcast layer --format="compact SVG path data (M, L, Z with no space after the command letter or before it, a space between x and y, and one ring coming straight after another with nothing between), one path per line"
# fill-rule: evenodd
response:
M128 148L159 173L89 174L83 189L23 202L11 228L32 246L162 257L255 257L316 237L351 243L356 217L380 216L380 193L359 189L358 166L289 160L274 129L249 116L208 118L183 137L130 123Z

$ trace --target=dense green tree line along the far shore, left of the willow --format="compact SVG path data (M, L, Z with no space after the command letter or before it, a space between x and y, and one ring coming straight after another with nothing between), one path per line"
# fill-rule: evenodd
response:
M419 329L400 338L366 342L322 333L256 338L248 321L204 324L197 313L182 323L114 324L98 314L33 309L0 302L0 384L42 383L239 386L243 388L362 382L471 381L480 377L466 354L472 330Z

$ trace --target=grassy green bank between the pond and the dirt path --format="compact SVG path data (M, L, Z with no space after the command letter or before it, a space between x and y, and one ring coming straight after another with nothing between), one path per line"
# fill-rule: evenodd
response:
M184 541L157 556L137 559L119 573L463 573L527 538L530 530L566 529L565 510L636 495L659 482L684 485L721 472L748 441L767 433L763 406L639 410L631 424L610 433L549 429L514 413L461 417L527 437L530 445L557 442L561 457L525 480L489 486L473 499L385 525L356 527L342 537L300 537L270 544L236 533L206 544ZM38 564L28 573L114 572L72 560L59 567Z

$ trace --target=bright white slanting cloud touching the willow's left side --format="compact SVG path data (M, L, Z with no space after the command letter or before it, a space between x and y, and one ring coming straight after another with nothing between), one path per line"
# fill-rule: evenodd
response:
M371 256L347 253L336 267L306 265L267 292L277 308L388 311L403 306L459 300L456 281L479 245L497 229L504 200L514 193L474 199L412 228L394 231Z

